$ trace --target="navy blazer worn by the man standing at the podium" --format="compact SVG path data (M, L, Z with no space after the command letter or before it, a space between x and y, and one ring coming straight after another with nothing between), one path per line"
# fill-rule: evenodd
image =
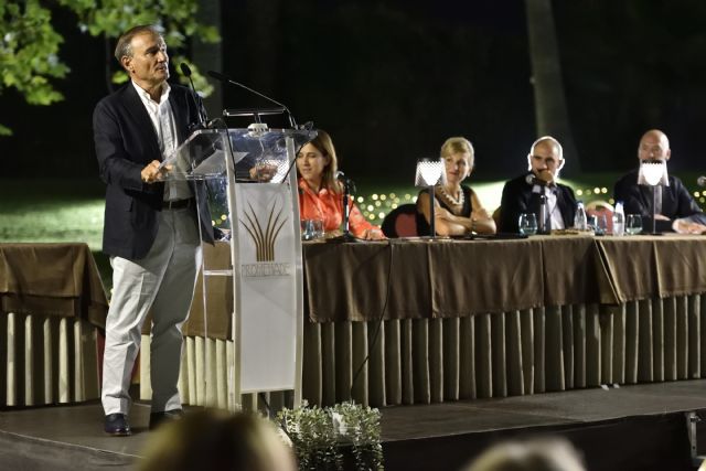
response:
M190 125L199 120L197 105L189 88L170 86L169 103L179 142L183 142ZM130 82L96 105L93 129L100 178L107 185L103 251L142 258L157 237L157 212L162 208L164 184L142 183L141 170L152 160L162 160L162 156L152 121ZM205 195L203 186L192 190ZM213 242L207 210L201 211L201 216L202 237Z

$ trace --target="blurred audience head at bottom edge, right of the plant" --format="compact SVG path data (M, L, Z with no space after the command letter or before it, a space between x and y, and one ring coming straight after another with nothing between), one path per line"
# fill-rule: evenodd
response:
M569 441L541 438L493 446L463 471L586 471L586 468Z

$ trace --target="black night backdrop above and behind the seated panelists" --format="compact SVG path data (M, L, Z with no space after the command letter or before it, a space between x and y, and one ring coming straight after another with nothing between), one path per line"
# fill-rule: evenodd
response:
M706 170L706 2L553 6L582 171L634 167L652 127L671 138L672 171ZM56 82L65 100L35 107L12 89L0 96L14 131L0 138L0 178L97 179L90 119L107 94L105 45L55 13L72 68ZM536 137L525 21L520 0L224 1L223 72L330 131L356 178L411 182L417 158L462 135L477 148L475 178L507 179L524 170ZM267 106L223 93L224 107Z

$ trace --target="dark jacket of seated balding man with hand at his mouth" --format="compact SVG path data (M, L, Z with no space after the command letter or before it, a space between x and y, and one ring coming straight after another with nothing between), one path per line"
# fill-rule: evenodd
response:
M500 203L500 227L498 232L518 233L520 215L522 213L535 213L539 217L539 194L532 192L533 185L527 183L528 174L530 172L523 173L505 183ZM576 215L574 191L567 185L557 183L556 205L561 213L564 227L571 227Z

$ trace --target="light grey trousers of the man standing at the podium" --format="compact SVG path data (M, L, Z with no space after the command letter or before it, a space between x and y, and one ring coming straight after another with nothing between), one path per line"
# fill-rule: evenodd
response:
M106 415L129 411L128 389L148 311L152 314L152 413L181 409L181 327L193 299L201 244L189 208L164 210L158 224L157 238L145 258L110 259L114 288L106 319L100 396Z

